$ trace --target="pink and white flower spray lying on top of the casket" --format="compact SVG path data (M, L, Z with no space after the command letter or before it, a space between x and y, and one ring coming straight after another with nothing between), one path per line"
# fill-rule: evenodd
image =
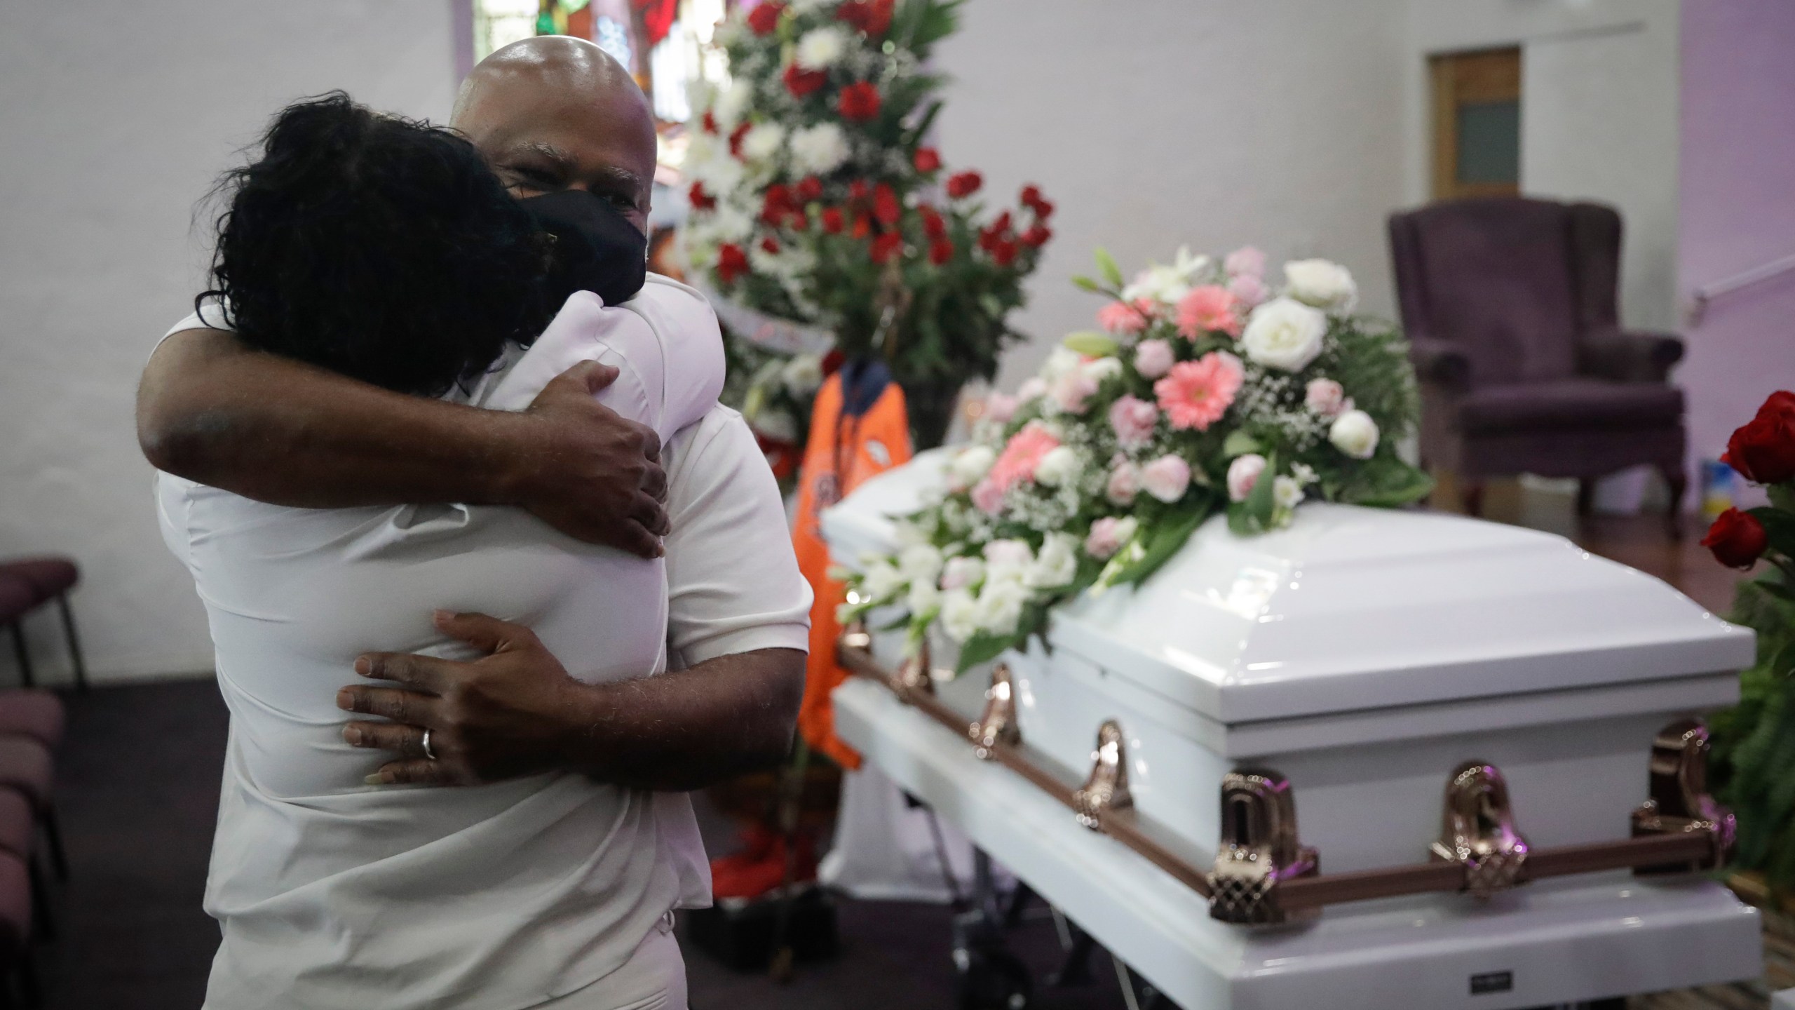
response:
M901 550L849 582L842 620L935 624L959 669L1021 647L1054 604L1147 579L1210 516L1273 530L1309 500L1402 505L1431 482L1395 444L1418 417L1400 334L1355 316L1352 275L1253 248L1179 250L1124 284L1099 252L1079 279L1109 302L1014 397L993 395Z

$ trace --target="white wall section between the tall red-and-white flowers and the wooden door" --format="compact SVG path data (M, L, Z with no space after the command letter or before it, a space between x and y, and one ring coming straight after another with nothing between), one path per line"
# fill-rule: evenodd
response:
M1391 313L1384 216L1404 199L1405 0L973 0L935 65L939 142L1014 199L1038 182L1055 239L998 377L1014 386L1099 300L1068 282L1255 243L1344 262Z

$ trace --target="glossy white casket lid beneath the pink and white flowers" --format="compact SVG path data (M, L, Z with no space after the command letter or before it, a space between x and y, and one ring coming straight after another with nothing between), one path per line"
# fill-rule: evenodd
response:
M942 455L824 516L842 563L890 550L889 516ZM1239 537L1217 516L1138 589L1054 613L1054 649L1224 724L1732 672L1754 636L1571 541L1438 512L1310 503Z

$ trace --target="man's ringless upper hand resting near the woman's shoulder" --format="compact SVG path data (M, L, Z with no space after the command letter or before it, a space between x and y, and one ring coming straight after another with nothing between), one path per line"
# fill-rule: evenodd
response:
M515 500L556 530L643 557L662 554L661 437L592 399L617 370L582 361L542 386L524 419Z

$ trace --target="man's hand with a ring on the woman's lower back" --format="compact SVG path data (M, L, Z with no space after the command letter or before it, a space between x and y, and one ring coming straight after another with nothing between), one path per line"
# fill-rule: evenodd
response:
M350 722L345 740L402 755L368 784L468 785L556 767L556 726L587 685L569 678L528 627L445 611L436 613L436 627L486 656L458 663L370 652L355 660L355 672L404 688L355 685L337 692L337 708L390 719ZM424 730L434 758L424 753Z

